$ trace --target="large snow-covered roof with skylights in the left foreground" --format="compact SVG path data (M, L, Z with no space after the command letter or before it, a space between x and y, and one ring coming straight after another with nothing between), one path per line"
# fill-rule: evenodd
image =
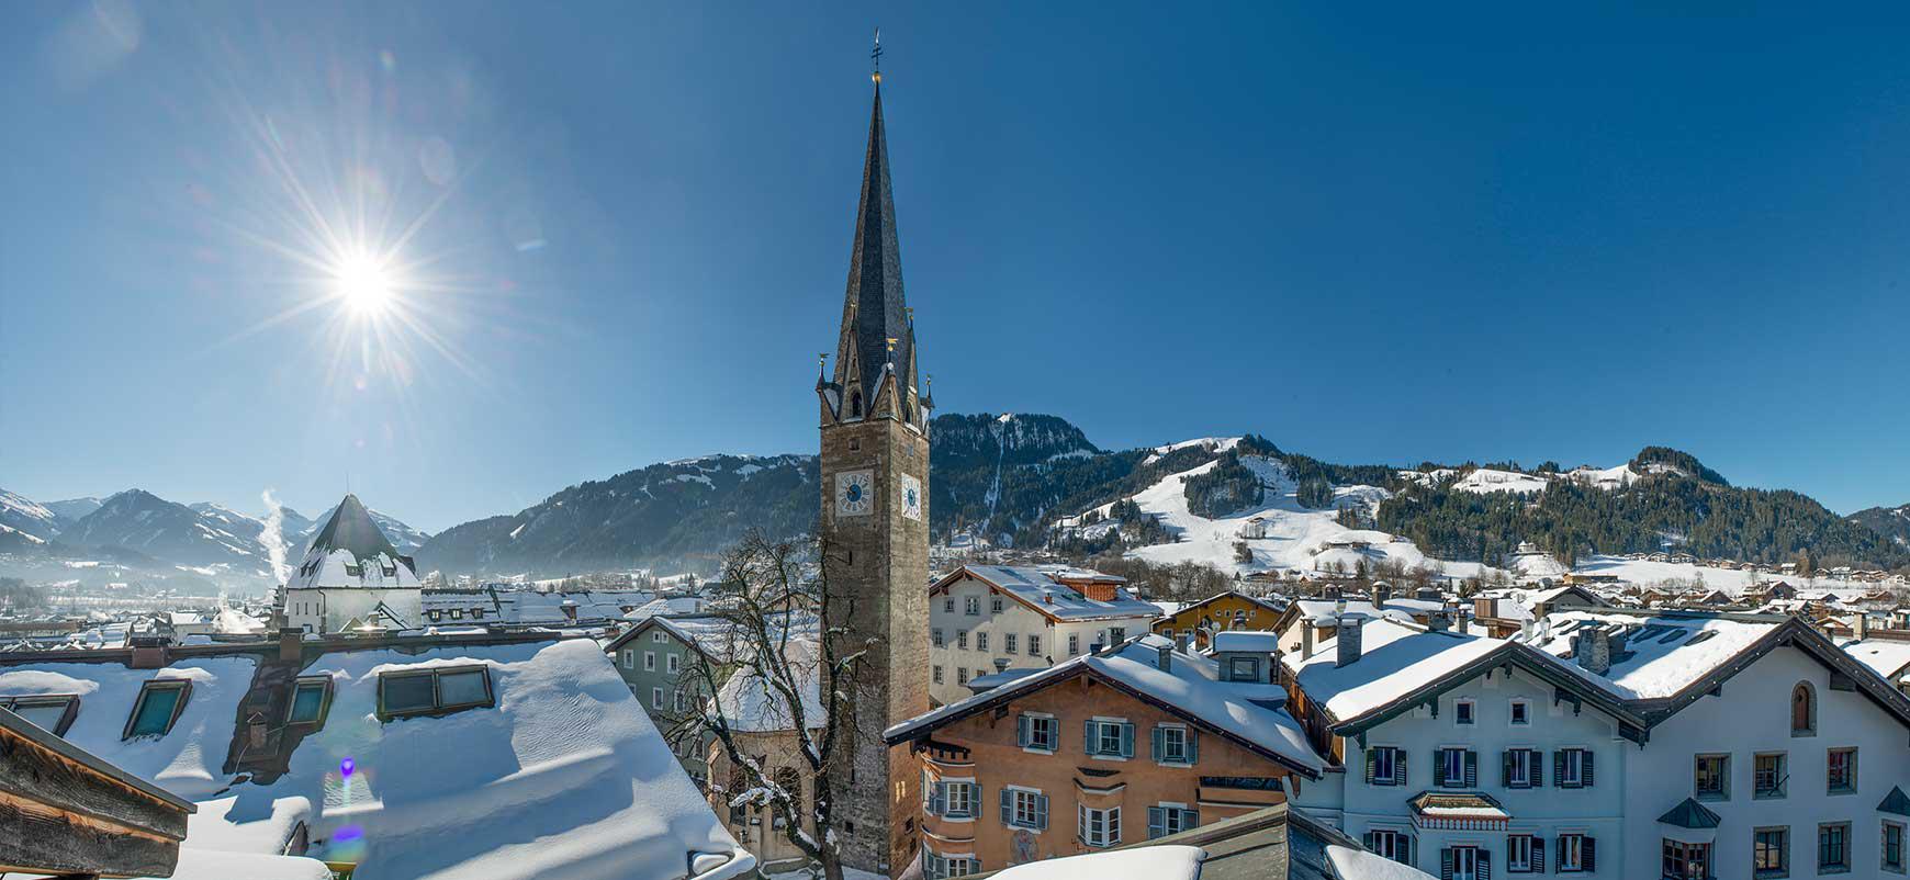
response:
M695 876L714 880L754 867L594 641L321 645L329 651L300 676L332 681L330 708L269 785L222 769L262 655L178 659L159 670L8 664L0 695L80 693L67 739L199 802L183 844L191 849L277 855L306 823L315 842L308 855L353 861L359 880L672 880L690 859ZM483 666L495 704L378 718L380 674L443 666ZM170 733L122 741L151 678L191 680L185 708ZM212 861L216 870L231 859ZM210 876L269 874L195 880Z

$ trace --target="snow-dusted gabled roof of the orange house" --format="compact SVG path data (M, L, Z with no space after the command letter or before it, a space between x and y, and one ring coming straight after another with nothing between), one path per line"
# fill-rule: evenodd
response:
M915 716L886 729L882 737L900 743L915 733L963 718L991 701L1033 693L1049 683L1091 672L1169 706L1188 722L1251 743L1291 767L1320 773L1324 764L1306 744L1299 722L1282 706L1285 691L1280 685L1220 681L1215 660L1175 651L1173 645L1163 636L1136 636L1098 655L1072 657L1031 676ZM1167 670L1159 668L1163 647L1171 655Z

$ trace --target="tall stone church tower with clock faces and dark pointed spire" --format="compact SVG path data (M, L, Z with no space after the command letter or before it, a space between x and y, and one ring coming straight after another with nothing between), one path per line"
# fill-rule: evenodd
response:
M917 391L915 321L902 300L896 200L888 189L882 76L875 74L869 151L856 206L848 294L835 372L821 403L821 531L829 626L871 643L858 697L854 773L835 796L844 861L898 874L915 855L921 775L882 729L928 710L928 412Z

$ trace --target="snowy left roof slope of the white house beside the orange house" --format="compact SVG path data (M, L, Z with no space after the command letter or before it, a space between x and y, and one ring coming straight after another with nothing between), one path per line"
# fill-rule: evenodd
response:
M1312 657L1285 655L1282 662L1308 702L1326 706L1335 722L1352 722L1503 647L1507 641L1486 636L1377 618L1360 626L1360 659L1347 666L1337 664L1339 638L1322 641Z

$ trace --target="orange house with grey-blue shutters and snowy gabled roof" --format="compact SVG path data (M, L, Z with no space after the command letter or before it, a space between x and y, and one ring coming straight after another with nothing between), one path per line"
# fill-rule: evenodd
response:
M1264 643L1140 636L890 727L923 777L923 869L965 876L1163 838L1284 804L1324 762Z

